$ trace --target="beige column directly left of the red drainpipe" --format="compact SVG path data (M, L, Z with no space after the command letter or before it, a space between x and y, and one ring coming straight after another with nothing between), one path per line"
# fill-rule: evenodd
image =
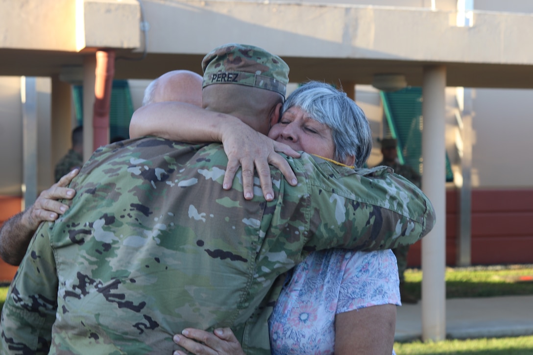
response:
M94 84L96 82L96 57L88 54L83 59L83 160L93 154Z

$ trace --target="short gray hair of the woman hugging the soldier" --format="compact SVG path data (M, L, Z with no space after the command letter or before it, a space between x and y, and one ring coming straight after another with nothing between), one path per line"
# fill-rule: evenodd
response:
M288 96L281 115L293 106L331 128L334 160L344 162L346 157L353 155L356 167L365 164L372 151L372 131L365 113L346 93L329 84L311 81Z

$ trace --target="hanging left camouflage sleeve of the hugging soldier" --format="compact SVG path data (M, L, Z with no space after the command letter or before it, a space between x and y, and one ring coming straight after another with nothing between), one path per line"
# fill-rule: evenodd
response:
M47 354L57 307L58 281L50 224L41 224L7 293L0 330L2 354Z

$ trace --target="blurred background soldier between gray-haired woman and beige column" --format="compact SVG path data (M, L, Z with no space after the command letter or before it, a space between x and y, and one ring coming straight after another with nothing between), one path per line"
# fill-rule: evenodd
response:
M421 176L412 167L398 162L398 141L393 138L385 138L381 140L381 154L383 160L378 165L385 165L393 168L394 173L403 176L410 182L414 183L418 188L421 187ZM409 253L409 245L402 245L393 248L392 252L398 261L398 276L400 277L400 295L402 303L417 303L415 296L409 294L405 290L405 270L407 269L407 254Z

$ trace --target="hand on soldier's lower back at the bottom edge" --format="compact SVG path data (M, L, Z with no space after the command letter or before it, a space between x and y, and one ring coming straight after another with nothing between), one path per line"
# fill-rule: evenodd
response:
M213 333L187 328L174 335L174 342L196 355L245 355L230 328L218 328ZM198 343L198 342L201 343ZM173 355L185 355L176 350Z

